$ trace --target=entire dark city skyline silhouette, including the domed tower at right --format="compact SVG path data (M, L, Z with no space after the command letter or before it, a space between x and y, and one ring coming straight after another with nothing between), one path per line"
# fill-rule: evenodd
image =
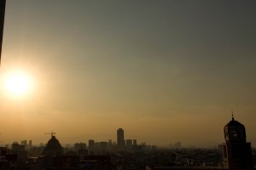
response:
M234 117L224 127L224 144L215 149L183 148L181 142L160 149L137 139L125 139L119 128L112 139L88 145L80 142L66 147L51 135L47 144L35 146L32 140L14 142L0 148L0 169L86 169L86 170L160 170L160 169L253 169L256 150L246 140L245 127ZM252 154L253 153L253 154Z

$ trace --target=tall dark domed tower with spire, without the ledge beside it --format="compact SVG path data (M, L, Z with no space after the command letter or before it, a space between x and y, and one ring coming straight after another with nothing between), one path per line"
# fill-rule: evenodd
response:
M247 142L246 129L233 116L224 126L224 138L224 168L253 169L251 143Z

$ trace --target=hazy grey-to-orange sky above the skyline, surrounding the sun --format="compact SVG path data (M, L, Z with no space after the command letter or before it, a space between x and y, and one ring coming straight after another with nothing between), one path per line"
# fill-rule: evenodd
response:
M116 141L122 127L207 146L233 110L256 145L256 1L8 0L4 24L1 77L22 70L33 89L1 89L3 144Z

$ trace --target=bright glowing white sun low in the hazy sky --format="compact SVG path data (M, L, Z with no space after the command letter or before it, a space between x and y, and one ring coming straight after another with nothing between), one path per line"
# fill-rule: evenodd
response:
M15 71L6 76L4 86L7 94L22 96L29 93L32 88L32 82L25 73Z

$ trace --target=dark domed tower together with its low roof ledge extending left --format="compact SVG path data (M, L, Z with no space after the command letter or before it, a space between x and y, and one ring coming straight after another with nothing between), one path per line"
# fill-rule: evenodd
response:
M146 170L209 170L209 169L230 169L230 170L252 170L253 156L251 143L247 142L246 129L244 125L232 120L224 126L225 143L223 149L222 167L149 167Z

